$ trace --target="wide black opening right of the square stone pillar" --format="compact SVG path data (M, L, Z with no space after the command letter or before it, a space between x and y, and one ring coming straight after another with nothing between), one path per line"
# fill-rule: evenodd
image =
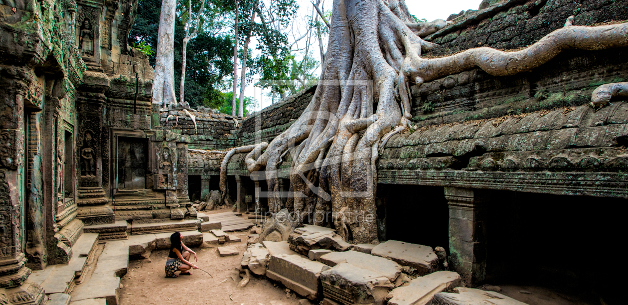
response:
M582 304L620 304L625 199L495 191L487 214L489 284L539 286ZM619 273L618 273L619 272Z

